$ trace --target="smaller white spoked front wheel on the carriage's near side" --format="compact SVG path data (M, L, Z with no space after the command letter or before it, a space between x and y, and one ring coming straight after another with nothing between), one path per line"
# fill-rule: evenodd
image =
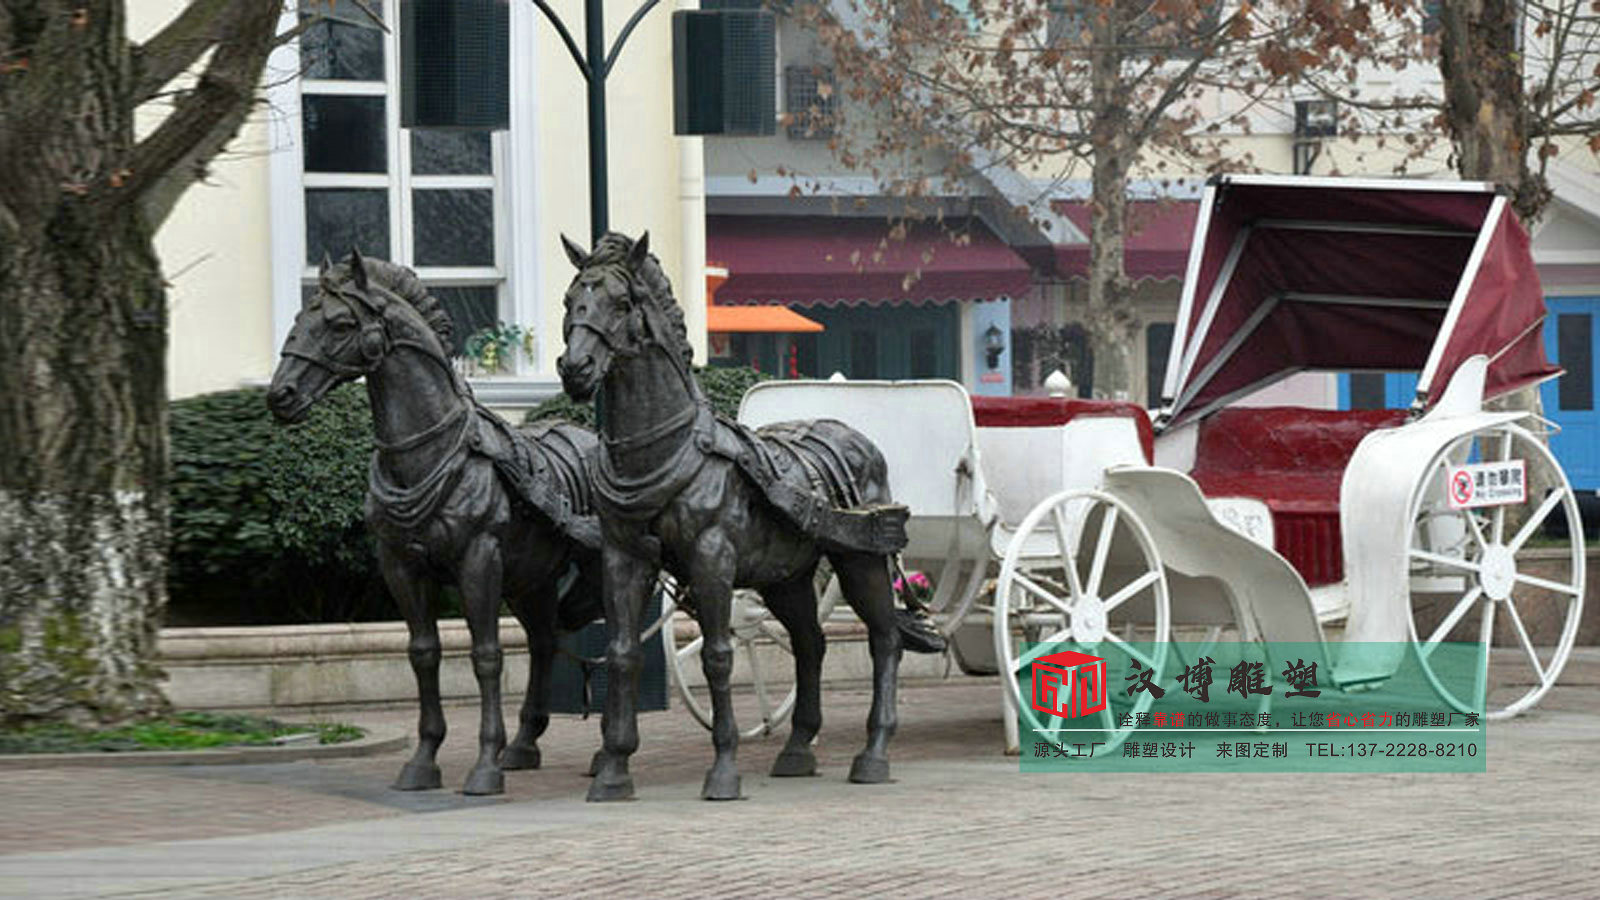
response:
M1152 682L1162 682L1170 618L1162 557L1131 508L1090 490L1062 492L1035 506L1006 548L995 586L995 658L1024 745L1102 741L1101 754L1126 740L1134 729L1122 724L1125 716L1147 711L1152 695L1130 697L1122 690L1125 676L1138 663L1154 673ZM1146 629L1150 641L1118 636L1114 628L1125 621ZM1024 649L1024 642L1034 645ZM1061 719L1034 708L1034 660L1061 650L1106 660L1102 711Z

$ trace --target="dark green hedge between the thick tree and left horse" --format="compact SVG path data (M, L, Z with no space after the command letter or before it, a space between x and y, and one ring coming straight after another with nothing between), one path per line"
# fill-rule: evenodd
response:
M362 520L373 420L334 389L298 426L266 391L171 405L170 621L256 625L394 618Z

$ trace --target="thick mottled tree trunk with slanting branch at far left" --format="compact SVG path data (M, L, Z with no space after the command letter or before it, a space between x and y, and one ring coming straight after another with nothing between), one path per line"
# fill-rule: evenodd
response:
M123 0L0 3L0 725L166 705L152 235L254 104L280 11L189 0L133 45Z

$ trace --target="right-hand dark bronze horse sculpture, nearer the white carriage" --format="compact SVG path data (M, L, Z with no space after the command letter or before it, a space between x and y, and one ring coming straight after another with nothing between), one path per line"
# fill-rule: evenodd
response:
M906 544L906 508L890 501L882 453L838 421L781 423L758 434L717 418L690 372L682 311L650 235L606 234L590 253L565 237L578 275L566 290L557 362L574 400L595 399L600 453L590 482L600 512L611 689L590 801L634 793L640 617L666 569L688 588L712 695L715 761L701 796L738 799L730 601L754 588L789 631L795 657L794 727L773 775L813 775L822 725L822 629L813 572L826 556L845 599L867 625L872 709L850 780L886 781L901 636L891 560Z

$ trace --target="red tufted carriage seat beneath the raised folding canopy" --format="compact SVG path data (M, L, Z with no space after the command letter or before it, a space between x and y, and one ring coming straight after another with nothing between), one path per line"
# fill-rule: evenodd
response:
M1190 476L1206 496L1253 496L1272 511L1274 549L1307 585L1344 578L1339 482L1368 432L1405 410L1237 407L1200 423Z

